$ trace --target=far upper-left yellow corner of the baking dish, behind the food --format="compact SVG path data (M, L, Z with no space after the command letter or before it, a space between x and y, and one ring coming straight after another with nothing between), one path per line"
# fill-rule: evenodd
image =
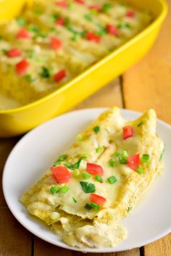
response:
M0 22L12 20L25 5L30 6L32 3L33 0L0 0Z

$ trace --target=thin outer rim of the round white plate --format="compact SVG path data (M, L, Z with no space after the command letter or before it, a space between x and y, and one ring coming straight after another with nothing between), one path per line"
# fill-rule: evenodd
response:
M9 207L9 210L12 212L12 215L14 215L14 218L17 219L17 221L19 221L19 223L24 227L26 228L28 231L30 231L31 234L39 237L40 239L42 239L43 241L46 241L46 242L49 242L50 244L54 244L55 246L57 247L62 247L64 249L71 249L73 251L77 251L77 252L93 252L93 253L107 253L107 252L122 252L122 251L126 251L126 250L130 250L130 249L135 249L135 248L138 248L138 247L143 247L145 246L146 244L150 244L154 241L157 241L158 239L161 239L163 236L166 236L167 234L170 233L171 231L171 225L170 227L166 228L164 232L160 232L158 235L156 236L153 236L153 238L150 239L150 241L146 241L146 243L144 244L135 244L133 247L129 247L129 248L125 248L125 249L117 249L117 247L104 247L104 248L85 248L85 249L80 249L80 248L77 248L77 247L70 247L69 245L67 244L58 244L58 241L57 243L54 243L53 241L51 241L51 239L46 239L44 238L43 236L41 236L41 234L38 234L36 231L34 231L33 229L31 228L28 228L27 225L25 225L25 223L22 222L22 220L20 220L19 217L17 217L17 214L14 212L14 210L12 209L12 207L10 206L10 203L9 203L9 199L7 198L7 194L6 194L6 189L5 189L5 186L4 186L4 183L5 183L5 178L6 178L6 169L7 169L7 165L8 165L8 162L14 152L14 150L17 148L17 146L19 144L22 143L22 141L25 141L25 139L28 139L29 136L32 135L32 133L34 133L35 131L37 131L39 128L45 126L46 124L48 123L53 123L54 120L57 120L59 117L63 117L63 116L67 116L67 115L70 115L70 114L74 114L74 113L77 113L77 112L86 112L86 111L99 111L99 112L104 112L106 110L109 110L111 107L90 107L90 108L85 108L85 109L80 109L80 110L73 110L73 111L70 111L70 112L65 112L64 114L62 115L58 115L57 117L54 117L54 118L51 118L51 120L48 120L44 123L42 123L41 125L38 125L36 128L33 128L31 131L29 131L28 133L25 133L24 136L22 136L22 138L17 141L17 144L14 145L14 147L12 148L11 152L9 153L8 157L7 157L7 160L5 162L5 165L4 165L4 170L3 170L3 173L2 173L2 191L3 191L3 194L4 194L4 199L7 203L7 206ZM142 112L138 112L138 111L135 111L135 110L128 110L128 109L123 109L123 108L120 108L120 111L121 111L121 115L122 114L130 114L130 115L136 115L137 117L139 115L142 115ZM164 125L166 126L167 128L169 128L171 130L171 125L164 122L163 120L160 120L157 118L157 123L161 124L161 125ZM27 227L26 227L27 226Z

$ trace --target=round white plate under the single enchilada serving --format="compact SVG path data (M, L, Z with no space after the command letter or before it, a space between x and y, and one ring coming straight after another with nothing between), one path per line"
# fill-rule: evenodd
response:
M69 148L75 136L104 110L95 108L69 112L38 126L14 146L4 168L4 196L15 218L36 236L59 247L81 251L64 244L46 225L29 215L19 199L41 178L57 156ZM126 119L135 119L139 115L138 112L122 110ZM87 248L84 251L117 252L141 247L171 231L171 127L157 120L157 132L166 144L164 172L151 184L141 204L122 220L128 228L128 238L114 248Z

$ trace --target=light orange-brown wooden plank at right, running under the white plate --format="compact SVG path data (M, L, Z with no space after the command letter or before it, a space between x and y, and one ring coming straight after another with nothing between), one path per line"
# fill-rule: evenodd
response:
M171 9L171 0L167 1ZM156 44L138 65L123 75L125 107L143 111L154 108L171 123L171 12ZM170 256L171 234L144 247L144 256Z

